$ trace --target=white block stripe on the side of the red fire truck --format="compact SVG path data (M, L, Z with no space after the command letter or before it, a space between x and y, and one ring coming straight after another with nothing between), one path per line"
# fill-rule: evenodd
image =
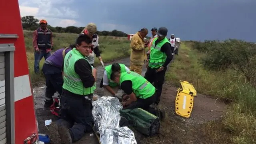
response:
M14 78L14 100L15 102L32 96L29 76L18 76Z

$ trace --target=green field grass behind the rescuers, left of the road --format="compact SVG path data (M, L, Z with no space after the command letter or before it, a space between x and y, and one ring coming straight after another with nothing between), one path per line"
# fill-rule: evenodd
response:
M64 48L73 44L77 38L77 34L67 34L67 33L53 33L53 43L54 50ZM34 74L34 49L32 46L32 31L24 30L24 38L26 44L26 52L28 58L28 66L31 76L32 84L37 84L38 82L44 82L44 77L42 74ZM111 36L100 36L99 38L99 48L101 51L102 60L104 62L110 62L118 58L124 58L130 55L129 44L130 41L126 37L111 37ZM44 58L40 62L40 69L44 64ZM95 58L95 65L99 65L100 62L98 58Z

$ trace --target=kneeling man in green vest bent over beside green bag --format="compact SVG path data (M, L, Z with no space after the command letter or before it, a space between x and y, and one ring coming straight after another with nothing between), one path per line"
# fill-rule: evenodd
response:
M111 74L111 80L120 84L121 89L127 94L121 102L124 108L142 108L158 116L160 120L164 119L163 110L150 107L156 101L156 88L143 76L136 72L114 72Z

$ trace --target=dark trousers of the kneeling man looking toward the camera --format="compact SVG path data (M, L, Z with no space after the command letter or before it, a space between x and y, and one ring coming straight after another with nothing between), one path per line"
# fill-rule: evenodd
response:
M92 94L89 97L92 98ZM80 140L86 132L92 130L92 101L63 90L57 124L69 128L73 142Z

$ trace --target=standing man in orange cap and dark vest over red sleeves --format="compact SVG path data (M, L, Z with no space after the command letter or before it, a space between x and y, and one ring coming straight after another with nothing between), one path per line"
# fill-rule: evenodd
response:
M33 47L35 49L34 73L39 73L39 63L44 57L46 60L51 56L52 31L47 28L46 20L40 20L40 28L33 32Z

